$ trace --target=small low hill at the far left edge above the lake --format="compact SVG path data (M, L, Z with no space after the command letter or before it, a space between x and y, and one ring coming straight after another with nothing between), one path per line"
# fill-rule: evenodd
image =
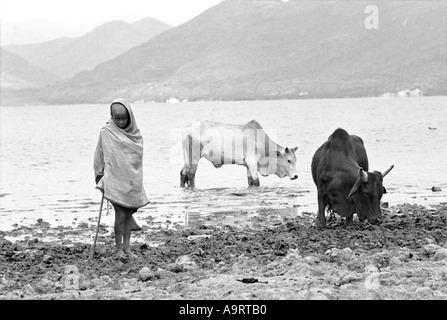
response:
M48 71L29 64L19 56L0 49L0 84L2 89L40 88L57 82L59 78Z

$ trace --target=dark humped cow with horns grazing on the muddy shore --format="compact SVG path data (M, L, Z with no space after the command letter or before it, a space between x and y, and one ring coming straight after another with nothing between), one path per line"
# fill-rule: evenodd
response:
M386 193L382 181L393 167L368 172L363 140L343 129L335 130L312 158L312 178L318 191L317 227L326 226L326 207L346 217L346 225L352 225L354 213L362 222L380 223L380 199Z

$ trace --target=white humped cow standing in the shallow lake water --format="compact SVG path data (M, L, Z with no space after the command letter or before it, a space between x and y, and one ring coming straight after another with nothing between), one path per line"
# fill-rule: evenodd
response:
M261 125L252 120L244 125L199 121L182 132L185 165L180 171L180 186L195 188L195 174L201 157L220 168L239 164L247 168L249 186L259 186L262 176L276 174L295 180L298 174L296 148L283 148L271 140Z

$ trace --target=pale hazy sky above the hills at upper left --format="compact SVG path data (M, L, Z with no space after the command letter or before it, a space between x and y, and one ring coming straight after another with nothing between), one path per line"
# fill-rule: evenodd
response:
M0 0L0 20L68 23L133 22L152 17L178 25L222 0Z

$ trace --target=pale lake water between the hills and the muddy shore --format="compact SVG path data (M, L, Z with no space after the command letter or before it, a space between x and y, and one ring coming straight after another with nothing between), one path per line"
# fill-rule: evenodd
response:
M294 217L317 211L310 163L338 127L361 136L370 171L385 178L390 205L447 201L447 97L149 103L132 105L145 139L144 186L151 201L137 220L241 224L247 217ZM53 226L98 216L93 153L108 105L0 107L0 230L38 218ZM202 159L196 191L180 188L182 128L196 120L243 124L256 119L275 142L299 149L299 178L261 177L248 188L246 169ZM442 189L432 192L432 186ZM104 209L105 212L105 209ZM113 224L113 214L104 216ZM144 223L143 223L144 224Z

